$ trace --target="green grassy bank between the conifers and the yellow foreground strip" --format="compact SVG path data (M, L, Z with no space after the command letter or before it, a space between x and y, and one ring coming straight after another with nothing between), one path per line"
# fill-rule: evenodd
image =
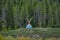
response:
M1 35L8 36L11 35L12 37L60 37L60 29L54 29L54 28L41 28L41 29L17 29L17 30L11 30L11 31L1 31Z

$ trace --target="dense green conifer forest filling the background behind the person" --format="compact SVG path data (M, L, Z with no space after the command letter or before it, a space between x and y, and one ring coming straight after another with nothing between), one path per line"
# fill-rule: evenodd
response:
M0 0L0 30L33 27L60 28L60 0Z

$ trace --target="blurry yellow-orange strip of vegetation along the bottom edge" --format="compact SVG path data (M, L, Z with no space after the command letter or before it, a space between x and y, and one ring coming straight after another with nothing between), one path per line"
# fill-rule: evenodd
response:
M17 37L17 38L13 38L12 36L8 36L8 37L0 36L0 40L60 40L60 38L56 38L56 37L50 37L50 38Z

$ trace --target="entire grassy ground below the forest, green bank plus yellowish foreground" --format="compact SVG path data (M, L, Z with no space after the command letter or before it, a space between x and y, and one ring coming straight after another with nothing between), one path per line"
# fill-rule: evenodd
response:
M0 35L6 40L60 40L60 29L34 28L27 30L25 28L20 28L5 32L1 31Z

